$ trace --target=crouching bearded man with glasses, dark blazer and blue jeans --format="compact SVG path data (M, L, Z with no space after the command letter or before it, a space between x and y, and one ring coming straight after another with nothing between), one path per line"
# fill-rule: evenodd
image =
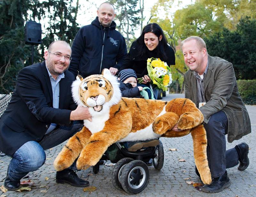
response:
M0 150L12 157L4 186L20 187L20 179L45 162L44 150L52 148L81 129L78 120L89 119L88 108L76 107L71 96L74 75L67 71L71 48L52 42L43 63L20 70L12 99L0 119ZM57 183L88 186L70 169L56 174Z

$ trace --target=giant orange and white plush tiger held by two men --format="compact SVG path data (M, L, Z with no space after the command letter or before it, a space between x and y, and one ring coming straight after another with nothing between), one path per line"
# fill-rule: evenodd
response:
M211 184L206 155L203 115L189 99L169 102L121 97L119 83L108 69L102 75L78 78L72 84L77 105L89 107L92 122L71 137L54 161L57 171L68 168L78 157L78 169L95 165L107 148L119 141L142 141L192 134L196 167L204 184ZM181 132L172 130L178 124Z

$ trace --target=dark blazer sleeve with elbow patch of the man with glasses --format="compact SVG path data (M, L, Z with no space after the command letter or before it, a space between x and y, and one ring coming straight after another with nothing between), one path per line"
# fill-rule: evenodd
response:
M69 125L71 110L49 107L41 86L36 73L25 67L18 75L16 93L39 121Z

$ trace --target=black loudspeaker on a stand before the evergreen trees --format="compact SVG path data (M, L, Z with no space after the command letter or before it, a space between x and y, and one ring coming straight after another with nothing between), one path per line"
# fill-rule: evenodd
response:
M25 43L41 44L42 43L42 27L40 23L27 21L25 25Z

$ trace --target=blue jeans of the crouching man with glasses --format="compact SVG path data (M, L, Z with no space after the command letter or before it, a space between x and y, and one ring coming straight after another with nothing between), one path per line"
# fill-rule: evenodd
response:
M74 121L70 127L60 126L46 134L39 142L28 141L23 144L13 155L7 173L12 181L19 181L22 177L38 170L45 163L46 155L44 150L55 147L83 127L83 122ZM72 165L73 166L73 165Z

